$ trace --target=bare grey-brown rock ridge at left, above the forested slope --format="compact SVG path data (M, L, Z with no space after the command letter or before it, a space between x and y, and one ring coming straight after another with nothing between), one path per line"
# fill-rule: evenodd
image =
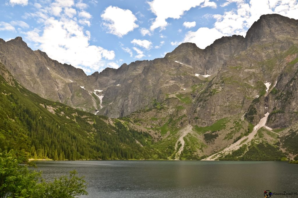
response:
M82 69L52 60L40 50L32 51L21 37L0 40L0 61L22 85L46 99L89 112L100 105L80 87L93 89Z

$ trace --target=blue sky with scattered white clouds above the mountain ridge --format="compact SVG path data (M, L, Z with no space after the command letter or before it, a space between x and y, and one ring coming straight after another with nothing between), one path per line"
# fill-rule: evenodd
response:
M263 14L298 19L298 0L0 0L0 38L22 37L87 75L161 58L183 42L201 49L246 31Z

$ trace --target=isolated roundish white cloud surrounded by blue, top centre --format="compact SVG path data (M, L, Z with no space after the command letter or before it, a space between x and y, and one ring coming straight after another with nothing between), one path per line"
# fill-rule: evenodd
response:
M100 16L105 21L103 25L108 28L108 32L118 37L122 37L139 27L135 23L137 18L129 9L109 6Z

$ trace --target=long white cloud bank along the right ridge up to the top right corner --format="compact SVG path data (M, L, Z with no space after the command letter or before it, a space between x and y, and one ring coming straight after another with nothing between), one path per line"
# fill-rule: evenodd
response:
M238 34L245 36L248 28L252 26L263 14L277 13L290 18L298 19L298 2L296 0L226 0L222 7L231 3L237 5L237 9L227 9L223 15L212 15L216 20L214 28L199 28L197 31L189 31L182 42L193 42L201 49L212 44L223 36ZM180 42L171 42L178 45Z

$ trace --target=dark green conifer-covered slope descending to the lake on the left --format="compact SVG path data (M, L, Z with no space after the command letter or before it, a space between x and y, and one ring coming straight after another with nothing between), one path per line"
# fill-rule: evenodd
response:
M150 135L48 101L17 82L15 87L7 84L2 76L0 101L0 149L4 151L23 149L31 158L55 160L150 158L146 147Z

